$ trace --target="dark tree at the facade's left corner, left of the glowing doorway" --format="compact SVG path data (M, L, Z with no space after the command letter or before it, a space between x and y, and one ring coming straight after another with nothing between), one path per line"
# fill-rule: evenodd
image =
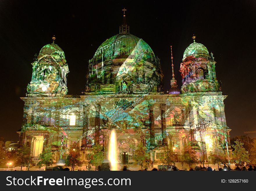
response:
M16 155L16 165L20 166L20 171L22 171L23 166L29 165L29 155L30 155L30 147L27 145L23 145L18 149Z

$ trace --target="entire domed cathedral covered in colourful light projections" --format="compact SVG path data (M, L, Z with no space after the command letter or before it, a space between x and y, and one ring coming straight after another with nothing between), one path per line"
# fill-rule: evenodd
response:
M116 130L118 163L134 164L134 150L143 143L153 165L160 165L168 145L180 162L184 145L193 145L198 161L210 162L216 143L231 156L224 99L216 79L213 54L198 42L183 54L177 87L172 63L170 90L163 91L160 59L150 46L130 34L123 15L119 34L106 39L88 63L82 95L68 94L70 72L63 50L47 44L32 64L27 86L19 145L31 145L33 165L47 147L56 161L65 158L77 143L81 160L88 165L92 145L108 155L109 136ZM192 41L192 40L191 40ZM173 59L173 57L172 57ZM171 69L170 69L171 70Z

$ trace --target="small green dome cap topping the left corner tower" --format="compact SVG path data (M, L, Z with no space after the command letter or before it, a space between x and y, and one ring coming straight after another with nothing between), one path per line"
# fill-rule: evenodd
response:
M63 50L55 43L45 45L39 52L38 58L43 56L53 56L56 59L65 59Z

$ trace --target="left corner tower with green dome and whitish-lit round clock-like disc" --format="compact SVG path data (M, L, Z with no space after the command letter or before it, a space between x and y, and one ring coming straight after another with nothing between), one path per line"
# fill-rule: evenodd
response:
M63 50L54 43L45 45L32 64L31 82L27 86L27 97L61 96L67 94L69 72Z

